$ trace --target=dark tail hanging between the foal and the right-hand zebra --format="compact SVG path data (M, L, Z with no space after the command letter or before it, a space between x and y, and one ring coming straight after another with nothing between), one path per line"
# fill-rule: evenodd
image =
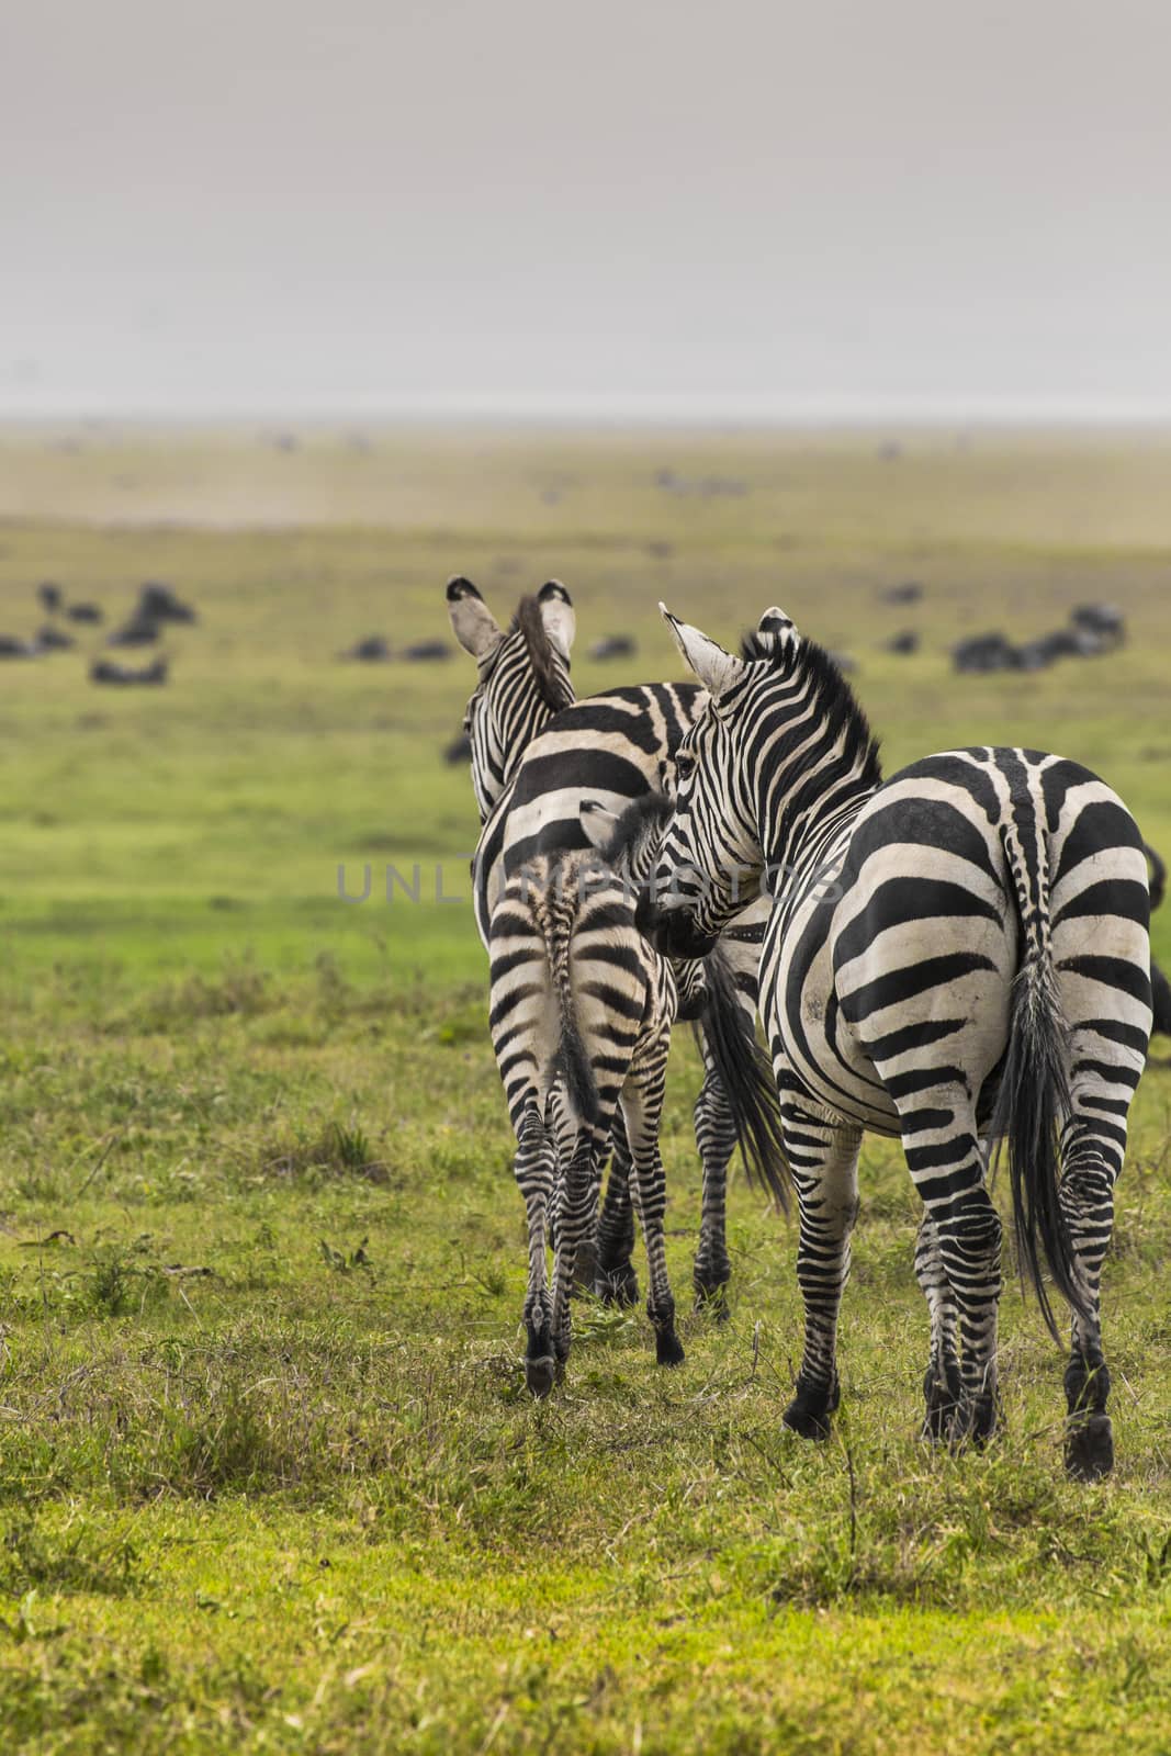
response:
M718 945L704 961L704 985L708 997L695 1034L708 1047L723 1085L748 1182L764 1187L788 1213L792 1178L781 1134L776 1075L757 1043L751 1020L739 999L736 976Z

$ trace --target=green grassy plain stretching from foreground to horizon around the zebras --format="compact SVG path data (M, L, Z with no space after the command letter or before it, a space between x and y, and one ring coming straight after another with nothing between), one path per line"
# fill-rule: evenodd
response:
M794 1236L743 1182L730 1324L688 1317L665 1375L641 1313L583 1305L532 1405L476 813L441 760L472 667L335 657L446 636L455 571L500 616L562 578L581 694L676 674L658 597L729 641L781 602L857 658L890 767L1062 750L1171 855L1167 465L1153 435L0 434L0 634L40 579L200 613L162 690L93 687L102 630L0 664L5 1752L1171 1747L1171 1075L1118 1191L1110 1482L1062 1477L1062 1357L1015 1282L1004 1436L918 1443L885 1141L827 1447L779 1429ZM923 601L885 604L904 579ZM959 634L1087 599L1124 651L952 674ZM637 658L590 664L607 632ZM695 1089L681 1045L678 1292Z

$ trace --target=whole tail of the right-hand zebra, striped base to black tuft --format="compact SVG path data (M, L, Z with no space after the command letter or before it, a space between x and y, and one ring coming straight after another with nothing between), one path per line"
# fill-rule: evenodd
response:
M1069 1305L1087 1315L1088 1308L1059 1198L1059 1134L1071 1108L1069 1045L1050 946L1048 852L1031 810L1018 808L1001 824L1001 839L1013 876L1022 948L990 1136L997 1154L1008 1145L1018 1263L1032 1280L1053 1340L1060 1342L1043 1263Z

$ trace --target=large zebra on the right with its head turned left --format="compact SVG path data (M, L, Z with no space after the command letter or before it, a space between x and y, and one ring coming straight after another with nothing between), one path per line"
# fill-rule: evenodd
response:
M662 606L660 606L662 608ZM711 706L639 920L700 955L767 887L762 1011L801 1206L804 1357L787 1426L829 1431L864 1129L899 1134L923 1217L925 1431L997 1421L1001 1222L983 1143L1006 1141L1018 1254L1073 1310L1066 1466L1113 1465L1099 1280L1152 1022L1143 841L1088 769L1034 750L927 757L883 781L834 662L779 609L757 655L664 609Z

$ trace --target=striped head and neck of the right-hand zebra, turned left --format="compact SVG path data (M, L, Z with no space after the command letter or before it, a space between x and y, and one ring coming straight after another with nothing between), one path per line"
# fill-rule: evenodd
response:
M843 787L873 787L876 745L832 658L767 609L743 657L658 606L709 702L676 757L676 808L639 925L702 957L762 883L776 894L797 832Z

